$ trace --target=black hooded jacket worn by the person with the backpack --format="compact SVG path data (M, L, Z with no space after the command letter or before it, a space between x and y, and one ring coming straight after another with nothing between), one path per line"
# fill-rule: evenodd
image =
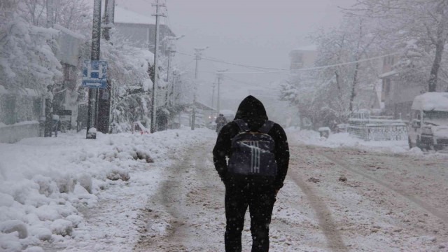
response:
M239 104L234 120L237 119L244 120L251 130L256 131L267 120L265 106L258 99L249 95ZM238 133L239 127L235 121L232 121L223 127L216 140L213 150L213 160L216 171L223 181L225 181L227 173L227 161L225 158L232 155L232 138ZM267 134L275 141L274 155L277 163L277 176L274 179L274 189L279 190L283 186L286 172L288 172L288 140L286 139L283 128L276 123Z

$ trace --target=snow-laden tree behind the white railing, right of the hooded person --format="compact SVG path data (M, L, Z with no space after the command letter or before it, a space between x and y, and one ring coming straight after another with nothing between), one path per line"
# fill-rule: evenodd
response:
M293 71L282 87L282 99L297 104L314 125L344 122L357 109L360 89L374 90L379 73L373 60L376 36L362 18L345 18L342 25L311 36L317 45L316 69Z

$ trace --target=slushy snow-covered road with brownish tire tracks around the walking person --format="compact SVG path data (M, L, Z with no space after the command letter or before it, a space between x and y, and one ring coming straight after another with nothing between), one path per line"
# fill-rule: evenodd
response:
M137 251L222 251L224 188L212 143L173 167L144 215ZM447 158L291 146L272 251L447 251ZM340 180L339 180L340 179ZM346 179L346 181L344 181ZM160 222L167 232L159 232ZM246 216L243 244L251 244Z

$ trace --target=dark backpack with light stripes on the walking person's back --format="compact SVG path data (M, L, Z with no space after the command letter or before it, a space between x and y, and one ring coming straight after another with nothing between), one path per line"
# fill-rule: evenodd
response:
M232 138L228 172L248 176L276 176L275 142L267 134L274 122L267 120L257 132L251 132L244 120L235 120L235 123L239 127L239 134Z

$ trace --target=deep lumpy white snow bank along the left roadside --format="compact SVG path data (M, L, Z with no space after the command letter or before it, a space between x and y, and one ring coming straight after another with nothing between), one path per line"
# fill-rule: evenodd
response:
M93 207L97 193L200 139L201 130L155 134L59 134L0 144L0 248L43 251L41 241L62 241L83 222L78 207ZM157 178L155 178L157 179Z

